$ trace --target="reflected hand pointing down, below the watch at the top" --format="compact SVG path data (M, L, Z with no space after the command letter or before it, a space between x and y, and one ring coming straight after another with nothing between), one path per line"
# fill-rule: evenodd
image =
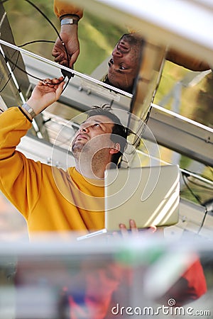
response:
M62 38L63 42L60 40L60 38ZM57 38L55 41L52 55L55 57L55 62L58 62L60 65L65 65L65 67L72 68L77 60L78 55L80 54L80 43L77 37L77 26L61 26L60 38ZM65 47L67 49L67 53L65 51Z

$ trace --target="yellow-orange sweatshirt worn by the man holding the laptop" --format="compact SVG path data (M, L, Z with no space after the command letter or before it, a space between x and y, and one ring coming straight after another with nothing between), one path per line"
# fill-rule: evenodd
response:
M27 159L16 145L29 128L17 107L0 115L0 189L26 218L29 233L104 228L103 181Z

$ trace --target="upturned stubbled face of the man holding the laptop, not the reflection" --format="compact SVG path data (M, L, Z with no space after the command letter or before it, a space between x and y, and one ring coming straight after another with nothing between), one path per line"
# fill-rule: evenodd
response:
M110 135L114 123L107 116L97 115L87 118L80 125L80 129L77 130L74 139L72 140L72 153L75 157L84 151L87 152L87 147L89 145L89 152L94 152L102 150L102 148L110 147L112 141L110 140Z

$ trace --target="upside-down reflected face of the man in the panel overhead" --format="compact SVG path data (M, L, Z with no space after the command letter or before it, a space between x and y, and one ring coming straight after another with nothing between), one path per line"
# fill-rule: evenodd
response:
M133 34L123 35L112 52L109 60L108 79L119 89L128 89L138 72L141 42Z

